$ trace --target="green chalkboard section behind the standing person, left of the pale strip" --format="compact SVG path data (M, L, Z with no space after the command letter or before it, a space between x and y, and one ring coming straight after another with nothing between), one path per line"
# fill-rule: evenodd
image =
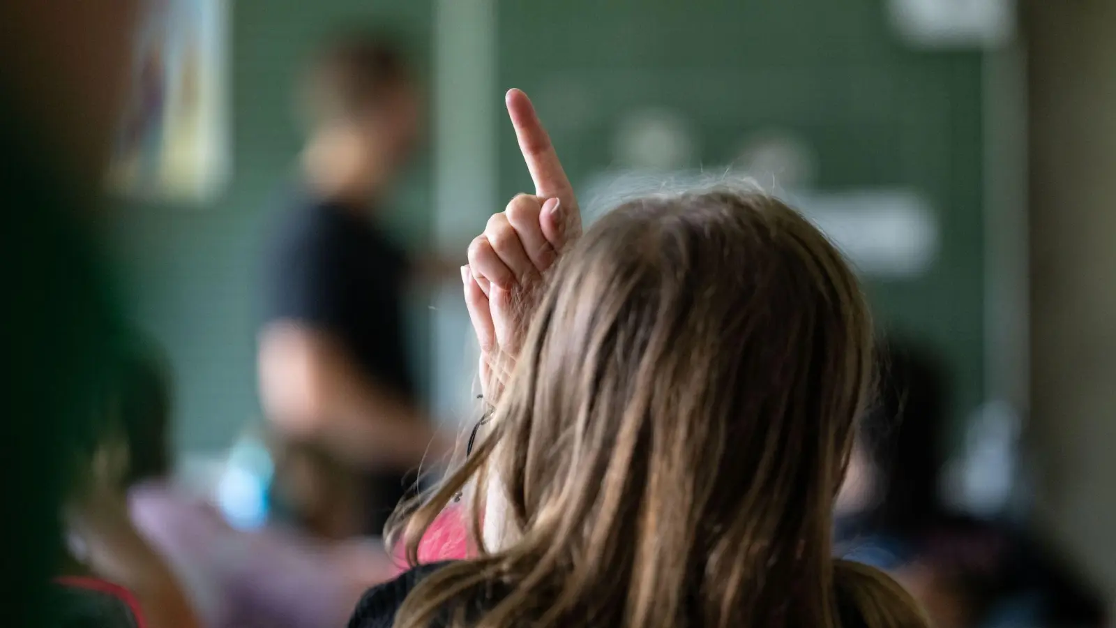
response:
M299 63L328 32L360 23L397 30L420 60L430 48L429 0L234 0L231 11L231 182L205 203L128 201L112 226L124 288L140 325L166 346L177 378L176 436L213 450L259 419L254 352L261 246L295 180L300 134L291 89ZM422 159L393 202L403 238L429 237ZM423 308L415 307L414 335ZM416 345L417 356L425 346Z

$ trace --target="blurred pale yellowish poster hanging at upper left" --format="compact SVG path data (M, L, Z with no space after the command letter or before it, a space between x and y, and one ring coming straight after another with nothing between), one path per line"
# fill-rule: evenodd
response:
M206 200L229 178L228 0L156 0L150 11L109 183L127 197Z

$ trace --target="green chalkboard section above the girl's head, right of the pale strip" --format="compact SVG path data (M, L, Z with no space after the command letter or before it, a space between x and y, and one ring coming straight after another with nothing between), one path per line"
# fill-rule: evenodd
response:
M981 54L897 41L879 1L501 2L500 86L528 91L575 185L613 160L614 130L654 106L692 123L690 166L777 126L817 155L820 191L913 189L940 226L927 273L870 279L881 329L939 352L960 422L983 396ZM501 126L500 191L528 180Z

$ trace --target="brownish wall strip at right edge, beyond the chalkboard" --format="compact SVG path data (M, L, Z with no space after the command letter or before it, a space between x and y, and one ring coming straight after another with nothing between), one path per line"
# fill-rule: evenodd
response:
M1031 449L1043 527L1116 600L1116 2L1027 3ZM1116 609L1114 609L1116 610Z

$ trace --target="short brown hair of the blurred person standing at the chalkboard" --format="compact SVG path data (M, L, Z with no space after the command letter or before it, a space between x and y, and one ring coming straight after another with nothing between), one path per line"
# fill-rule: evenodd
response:
M326 39L305 77L311 123L363 115L411 79L402 48L382 32L352 30Z

